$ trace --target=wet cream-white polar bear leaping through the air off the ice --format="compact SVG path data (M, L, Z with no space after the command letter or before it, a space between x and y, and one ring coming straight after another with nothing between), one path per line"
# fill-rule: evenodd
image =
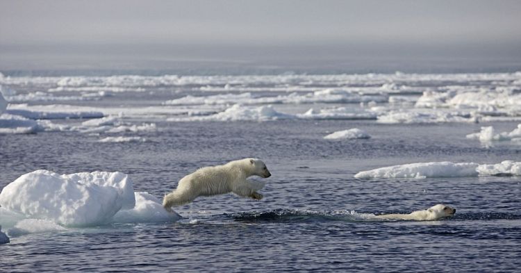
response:
M257 158L244 158L225 165L203 167L183 177L176 190L165 195L163 207L172 212L172 206L190 203L199 196L222 195L228 192L260 200L263 195L257 191L261 190L265 183L247 179L254 175L268 178L272 174L263 161Z

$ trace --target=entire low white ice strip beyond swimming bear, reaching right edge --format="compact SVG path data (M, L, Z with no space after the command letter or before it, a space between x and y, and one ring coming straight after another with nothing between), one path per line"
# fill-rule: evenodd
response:
M411 163L381 167L369 171L358 172L354 177L362 178L434 178L434 177L468 177L468 176L521 176L521 162L505 160L499 164L431 162Z

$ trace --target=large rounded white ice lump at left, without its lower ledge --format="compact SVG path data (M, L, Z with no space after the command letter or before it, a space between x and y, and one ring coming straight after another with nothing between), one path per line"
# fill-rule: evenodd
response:
M59 175L38 170L20 176L0 193L0 206L28 217L67 226L108 222L121 208L133 208L133 183L121 172Z

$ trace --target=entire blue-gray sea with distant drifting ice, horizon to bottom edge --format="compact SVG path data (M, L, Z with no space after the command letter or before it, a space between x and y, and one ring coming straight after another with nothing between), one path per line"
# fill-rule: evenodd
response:
M2 272L516 272L521 266L515 172L354 177L409 163L520 162L515 137L467 138L488 126L515 136L519 72L4 75L0 84L10 103L0 116L0 188L37 169L122 172L135 192L161 199L207 165L257 157L272 173L261 201L200 197L175 208L183 217L176 222L67 226L2 215L10 237L0 245ZM493 97L481 96L483 90ZM26 122L12 122L12 115ZM355 128L370 138L324 139ZM454 206L456 215L374 219L438 203Z

